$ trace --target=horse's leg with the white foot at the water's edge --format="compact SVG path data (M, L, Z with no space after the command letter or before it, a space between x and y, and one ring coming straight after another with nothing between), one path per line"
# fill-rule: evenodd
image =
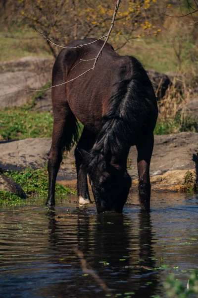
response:
M94 136L87 131L86 128L83 129L81 138L75 149L76 158L76 171L77 171L77 189L78 189L78 199L80 204L91 203L88 181L87 181L87 171L83 166L83 157L78 149L85 149L89 151L94 145Z

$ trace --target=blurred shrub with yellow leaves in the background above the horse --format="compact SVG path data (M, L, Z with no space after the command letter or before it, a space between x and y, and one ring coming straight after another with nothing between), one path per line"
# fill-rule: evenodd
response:
M9 28L20 22L40 30L49 40L66 44L73 39L101 37L108 32L116 1L104 0L4 0L2 20ZM156 0L122 0L111 34L115 48L129 40L156 35L156 20L167 7ZM159 31L158 31L159 30ZM59 49L46 39L54 57Z

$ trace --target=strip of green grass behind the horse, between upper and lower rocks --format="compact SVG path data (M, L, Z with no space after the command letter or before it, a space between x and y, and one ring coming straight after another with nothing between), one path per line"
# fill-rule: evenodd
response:
M51 112L37 112L31 106L0 110L0 140L21 140L51 137L53 118ZM82 131L82 124L80 131ZM198 119L179 114L174 119L158 120L154 134L167 135L179 132L198 132Z

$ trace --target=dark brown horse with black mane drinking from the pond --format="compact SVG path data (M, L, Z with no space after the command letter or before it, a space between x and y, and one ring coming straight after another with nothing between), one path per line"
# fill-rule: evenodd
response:
M101 40L93 41L75 40L59 53L52 85L93 67L103 44ZM90 203L88 173L98 213L122 212L131 187L127 156L130 147L136 145L139 198L141 208L148 211L149 164L158 110L152 84L141 63L134 57L118 55L106 44L94 70L52 88L51 97L53 133L47 206L55 205L55 180L62 151L70 150L78 141L78 119L84 125L75 149L80 204Z

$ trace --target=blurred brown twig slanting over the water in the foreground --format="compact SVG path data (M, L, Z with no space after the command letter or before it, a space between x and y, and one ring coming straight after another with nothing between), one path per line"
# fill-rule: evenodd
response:
M103 280L99 277L99 275L93 269L88 268L87 261L85 260L82 251L77 250L77 255L80 259L83 272L85 274L90 274L95 279L95 281L99 284L99 286L102 288L103 291L105 291L108 294L111 293L109 288L106 286L106 284L103 282Z

